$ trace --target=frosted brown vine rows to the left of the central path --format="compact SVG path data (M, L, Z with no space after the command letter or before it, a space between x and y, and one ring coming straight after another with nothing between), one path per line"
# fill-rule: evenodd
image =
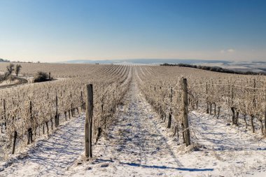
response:
M0 90L1 134L5 135L1 158L15 153L17 143L20 146L32 143L58 127L60 121L84 110L86 83L92 83L95 90L94 125L105 129L127 90L130 72L129 66L87 66L87 75L80 71L79 76L69 75L66 80Z

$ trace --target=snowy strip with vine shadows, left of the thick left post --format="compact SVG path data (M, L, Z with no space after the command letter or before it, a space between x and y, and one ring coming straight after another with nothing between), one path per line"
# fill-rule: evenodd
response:
M38 141L21 160L15 160L0 176L64 176L84 151L85 117L72 118L66 125Z

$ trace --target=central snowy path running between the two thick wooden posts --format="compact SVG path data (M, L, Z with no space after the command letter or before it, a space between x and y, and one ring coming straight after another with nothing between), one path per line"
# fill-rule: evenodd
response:
M116 124L94 148L92 165L75 167L70 176L171 176L183 167L168 139L159 131L155 113L134 83L118 108Z

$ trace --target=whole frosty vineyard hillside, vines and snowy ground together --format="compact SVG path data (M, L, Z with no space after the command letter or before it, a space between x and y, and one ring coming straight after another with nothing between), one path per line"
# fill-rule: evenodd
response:
M265 76L111 64L23 69L65 79L0 90L0 176L266 175ZM92 158L85 157L87 83Z

